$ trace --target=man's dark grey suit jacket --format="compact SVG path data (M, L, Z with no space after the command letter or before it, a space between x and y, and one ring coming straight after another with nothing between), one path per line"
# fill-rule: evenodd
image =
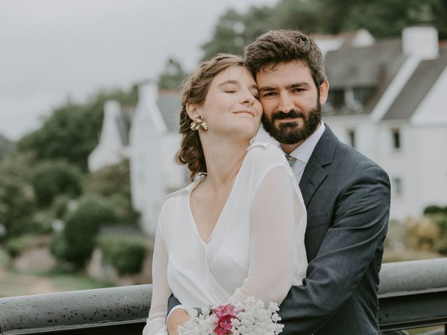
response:
M280 306L284 335L379 334L379 269L390 182L326 125L300 181L307 276Z

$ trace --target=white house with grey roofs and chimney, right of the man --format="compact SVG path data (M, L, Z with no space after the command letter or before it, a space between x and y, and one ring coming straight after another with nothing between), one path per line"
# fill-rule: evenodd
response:
M402 39L342 45L326 56L323 119L390 175L390 218L447 204L447 50L432 27Z

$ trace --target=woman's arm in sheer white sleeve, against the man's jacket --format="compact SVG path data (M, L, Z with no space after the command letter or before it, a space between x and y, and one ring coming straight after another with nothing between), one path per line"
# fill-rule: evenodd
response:
M284 165L273 168L261 180L251 204L249 274L230 303L254 296L266 304L281 304L295 272L305 276L306 210L293 183L296 181Z

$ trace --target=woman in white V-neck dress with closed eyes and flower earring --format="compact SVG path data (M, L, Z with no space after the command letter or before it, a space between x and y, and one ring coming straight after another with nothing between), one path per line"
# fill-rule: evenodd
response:
M177 160L192 183L161 209L144 335L168 334L171 293L193 315L250 296L280 304L291 285L302 284L306 209L284 153L250 144L262 112L239 57L218 54L186 82Z

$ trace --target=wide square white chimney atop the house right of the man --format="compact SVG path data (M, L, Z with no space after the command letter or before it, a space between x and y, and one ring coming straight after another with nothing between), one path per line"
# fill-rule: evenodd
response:
M439 57L438 31L434 27L407 27L402 30L402 51L421 61Z

